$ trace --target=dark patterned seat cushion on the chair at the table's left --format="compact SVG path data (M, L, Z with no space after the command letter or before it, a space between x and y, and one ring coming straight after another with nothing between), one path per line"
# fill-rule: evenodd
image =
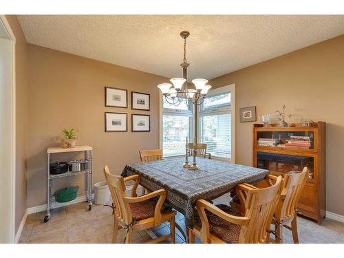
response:
M131 215L135 220L148 219L149 217L154 217L154 209L158 200L150 199L144 202L131 203ZM161 213L169 213L171 208L166 205L162 205Z

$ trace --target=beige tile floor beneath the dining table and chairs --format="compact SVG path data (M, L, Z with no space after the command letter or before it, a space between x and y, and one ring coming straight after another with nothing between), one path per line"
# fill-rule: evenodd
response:
M219 197L214 203L228 203L228 195ZM111 243L113 216L111 208L94 205L87 210L86 203L78 203L52 210L50 222L44 223L45 211L28 215L19 243ZM177 214L176 222L185 230L184 215ZM308 219L298 217L299 241L301 243L344 243L344 224L325 219L322 226ZM153 228L155 235L169 233L169 223ZM182 234L175 229L175 241L185 243ZM125 237L124 230L118 233L118 243ZM146 231L133 233L134 243L151 239ZM196 241L200 241L196 238ZM283 241L292 243L289 230L283 230ZM166 240L168 243L169 240Z

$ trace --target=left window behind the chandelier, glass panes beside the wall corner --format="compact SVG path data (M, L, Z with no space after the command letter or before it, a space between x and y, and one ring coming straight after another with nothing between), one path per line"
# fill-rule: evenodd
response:
M185 138L191 139L192 128L193 111L191 106L186 102L174 106L167 103L162 96L161 140L164 157L185 154Z

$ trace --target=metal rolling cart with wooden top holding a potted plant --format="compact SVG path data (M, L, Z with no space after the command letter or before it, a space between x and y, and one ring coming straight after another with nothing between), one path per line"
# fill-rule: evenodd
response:
M58 175L50 175L50 163L51 163L51 155L53 153L69 153L69 152L77 152L83 151L85 153L85 159L88 160L88 167L85 171L78 171L72 172L67 171L63 174ZM74 203L71 202L56 202L54 200L54 195L52 195L52 180L55 178L65 178L69 176L75 175L82 175L85 174L85 197L86 202L88 202L88 209L89 211L92 210L92 174L93 174L93 155L92 155L92 147L90 146L76 146L74 148L65 149L62 147L51 147L47 149L47 214L44 217L44 222L48 222L50 219L50 210L52 208L58 208L62 206L67 206L69 204Z

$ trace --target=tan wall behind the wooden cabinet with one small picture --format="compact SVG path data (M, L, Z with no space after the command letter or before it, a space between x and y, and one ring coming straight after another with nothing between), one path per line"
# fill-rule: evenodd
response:
M228 60L230 62L230 60ZM257 106L257 115L286 104L292 118L327 122L327 211L344 215L344 35L211 80L235 83L235 158L252 165L252 124L239 122L239 108Z

